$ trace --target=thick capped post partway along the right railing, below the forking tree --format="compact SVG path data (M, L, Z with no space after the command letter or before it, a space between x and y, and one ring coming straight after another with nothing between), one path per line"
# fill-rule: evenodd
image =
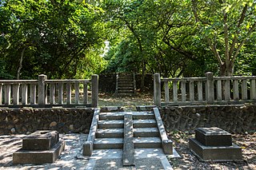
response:
M214 74L211 72L206 73L206 101L214 102Z

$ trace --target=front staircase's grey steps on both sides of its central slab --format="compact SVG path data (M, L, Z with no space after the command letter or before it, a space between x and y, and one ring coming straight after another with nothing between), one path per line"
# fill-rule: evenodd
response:
M124 115L100 113L94 149L123 148ZM153 113L133 112L134 148L161 148L162 141Z

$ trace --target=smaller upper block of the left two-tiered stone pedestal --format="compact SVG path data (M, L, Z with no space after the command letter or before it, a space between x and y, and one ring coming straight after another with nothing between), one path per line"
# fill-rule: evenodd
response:
M38 130L22 139L23 150L49 150L58 143L57 131Z

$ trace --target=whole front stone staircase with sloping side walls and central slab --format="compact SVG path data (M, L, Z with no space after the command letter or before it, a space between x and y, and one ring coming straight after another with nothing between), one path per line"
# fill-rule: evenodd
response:
M99 110L96 111L83 148L83 154L91 156L90 162L94 163L90 163L89 168L86 169L94 169L96 164L100 168L103 162L108 161L107 158L111 161L116 159L114 164L119 168L122 166L139 168L145 166L142 164L143 161L149 161L147 159L149 155L150 159L155 156L154 159L165 162L162 164L169 168L164 169L172 169L165 154L174 155L175 151L172 141L167 139L166 132L163 130L164 127L157 108L150 112L101 113ZM154 159L146 166L151 163L154 166ZM99 160L104 161L99 163ZM108 165L105 164L102 169L105 169L106 166ZM156 168L162 169L162 165L159 163Z

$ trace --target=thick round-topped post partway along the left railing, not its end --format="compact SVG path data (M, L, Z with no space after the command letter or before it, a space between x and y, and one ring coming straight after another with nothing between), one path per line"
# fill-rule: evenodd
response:
M46 83L47 76L40 74L38 76L38 106L44 107L46 105Z

